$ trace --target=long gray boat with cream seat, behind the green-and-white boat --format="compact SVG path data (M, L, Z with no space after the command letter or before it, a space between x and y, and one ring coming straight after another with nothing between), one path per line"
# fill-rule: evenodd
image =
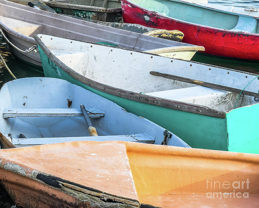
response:
M130 50L152 50L170 46L193 46L151 37L0 0L0 26L7 38L22 50L36 45L34 34L47 34L87 42L107 42ZM39 53L11 52L21 60L41 66Z

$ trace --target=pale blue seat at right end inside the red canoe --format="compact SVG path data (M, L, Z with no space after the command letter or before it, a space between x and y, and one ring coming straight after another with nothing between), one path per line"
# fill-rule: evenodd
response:
M257 19L239 16L236 27L230 31L256 33L257 24Z

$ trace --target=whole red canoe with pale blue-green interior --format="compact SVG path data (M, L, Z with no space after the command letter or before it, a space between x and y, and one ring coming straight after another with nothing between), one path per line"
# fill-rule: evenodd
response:
M121 0L121 5L124 22L180 30L183 42L204 46L208 54L259 60L259 17L253 11L237 14L179 0Z

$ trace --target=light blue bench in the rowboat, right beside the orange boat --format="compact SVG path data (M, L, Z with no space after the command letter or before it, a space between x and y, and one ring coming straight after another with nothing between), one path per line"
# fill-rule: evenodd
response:
M142 134L132 134L132 135L116 135L116 136L98 136L98 137L49 137L49 138L10 138L8 135L4 135L9 141L11 141L15 146L27 146L27 145L42 145L42 144L52 144L52 143L62 143L67 141L135 141L141 143L154 144L155 139L149 137L148 135Z

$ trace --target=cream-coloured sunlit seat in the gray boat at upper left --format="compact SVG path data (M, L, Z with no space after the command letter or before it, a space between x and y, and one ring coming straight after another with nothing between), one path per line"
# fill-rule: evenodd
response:
M0 16L0 21L7 25L14 31L21 33L23 35L34 35L35 33L40 33L42 26L37 24L32 24L29 22L24 22L21 20L16 20L13 18Z

